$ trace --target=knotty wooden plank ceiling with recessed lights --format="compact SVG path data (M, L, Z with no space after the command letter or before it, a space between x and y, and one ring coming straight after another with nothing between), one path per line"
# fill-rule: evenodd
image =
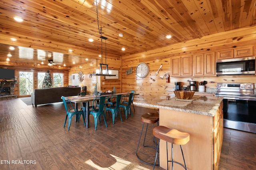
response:
M85 58L99 59L102 49L104 57L105 51L107 57L147 51L255 25L255 3L256 0L98 0L97 22L95 0L0 0L0 64L6 64L8 53L12 54L9 63L38 64L53 59L70 67L74 59L76 63L87 62ZM14 16L24 21L16 22ZM103 48L98 25L102 36L108 38L103 40ZM124 36L119 37L119 33ZM172 38L167 39L166 35ZM94 41L89 42L89 38ZM16 47L14 51L8 49L10 45ZM121 50L123 47L125 51Z

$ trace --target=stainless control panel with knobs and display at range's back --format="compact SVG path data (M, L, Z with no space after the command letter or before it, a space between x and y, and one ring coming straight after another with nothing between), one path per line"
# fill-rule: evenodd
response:
M253 83L217 83L217 88L253 90Z

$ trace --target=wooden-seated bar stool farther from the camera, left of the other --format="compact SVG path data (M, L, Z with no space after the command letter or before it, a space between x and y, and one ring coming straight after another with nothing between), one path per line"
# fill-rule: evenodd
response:
M154 137L154 139L153 139L153 141L155 142L155 145L156 145L155 147L152 147L152 146L145 146L145 139L146 139L146 134L147 134L147 130L148 130L148 123L151 123L151 124L153 125L153 127L154 127L154 123L158 123L158 121L159 121L159 114L158 114L158 113L146 113L146 114L140 116L140 120L143 122L142 129L141 129L141 133L140 133L140 139L141 139L141 136L142 136L144 124L147 123L146 132L145 132L145 137L144 137L144 142L143 142L143 147L150 147L150 148L156 149L157 145L156 145L156 139L155 139L155 137ZM150 164L150 163L148 163L148 162L145 162L144 160L142 160L142 159L138 156L137 152L138 152L138 148L139 148L139 145L140 145L140 139L139 139L139 142L138 142L138 147L137 147L137 149L136 149L136 156L137 156L137 158L138 158L141 162L143 162L143 163L145 163L145 164L154 165L154 164Z

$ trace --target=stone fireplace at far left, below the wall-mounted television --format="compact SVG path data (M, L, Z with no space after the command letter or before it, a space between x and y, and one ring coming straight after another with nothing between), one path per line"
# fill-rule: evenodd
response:
M18 95L14 95L15 83L13 80L1 80L0 86L0 100L7 100L17 98ZM6 81L5 84L2 81Z

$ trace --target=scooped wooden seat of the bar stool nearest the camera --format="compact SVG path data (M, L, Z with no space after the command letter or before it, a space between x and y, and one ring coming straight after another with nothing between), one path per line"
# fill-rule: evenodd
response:
M176 129L169 129L165 126L157 126L153 128L153 135L158 139L175 145L185 145L189 141L189 134L180 132Z

